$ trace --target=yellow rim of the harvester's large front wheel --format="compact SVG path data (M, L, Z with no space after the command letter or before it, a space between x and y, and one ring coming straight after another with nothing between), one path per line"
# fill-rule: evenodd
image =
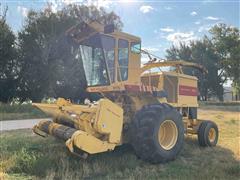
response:
M172 149L178 138L178 129L174 121L165 120L158 130L158 141L165 150Z

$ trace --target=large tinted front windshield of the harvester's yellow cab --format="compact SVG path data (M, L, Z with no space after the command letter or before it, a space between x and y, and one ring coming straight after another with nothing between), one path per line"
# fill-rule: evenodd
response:
M114 81L115 39L95 34L81 41L79 55L88 86L103 86Z

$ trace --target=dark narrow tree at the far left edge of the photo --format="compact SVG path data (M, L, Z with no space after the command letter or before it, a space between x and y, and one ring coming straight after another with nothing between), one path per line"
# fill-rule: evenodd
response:
M4 14L0 16L0 101L7 102L16 95L19 69L16 37L6 24Z

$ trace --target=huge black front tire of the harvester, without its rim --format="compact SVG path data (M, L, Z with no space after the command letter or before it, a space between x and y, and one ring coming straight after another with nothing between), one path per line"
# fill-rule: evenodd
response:
M177 139L171 149L164 149L158 137L165 120L176 125ZM131 126L131 144L136 155L151 163L168 162L176 158L184 143L184 126L181 114L168 104L146 105L136 112Z

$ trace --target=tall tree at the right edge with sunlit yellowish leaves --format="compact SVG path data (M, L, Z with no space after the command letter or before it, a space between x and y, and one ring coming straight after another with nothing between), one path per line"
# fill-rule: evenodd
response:
M236 100L240 99L240 35L239 29L226 24L218 24L210 29L216 53L220 56L220 74L227 74L233 81Z

